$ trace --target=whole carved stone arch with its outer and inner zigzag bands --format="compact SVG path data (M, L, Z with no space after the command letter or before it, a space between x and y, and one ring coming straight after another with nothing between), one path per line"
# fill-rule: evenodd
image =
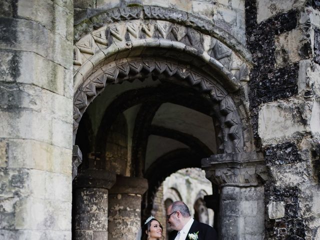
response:
M85 108L106 85L135 78L143 79L143 74L148 72L158 74L160 78L161 75L166 75L181 81L187 80L189 85L208 92L212 100L217 102L217 112L223 115L223 133L220 138L224 144L221 147L225 152L243 151L240 120L243 116L239 116L237 104L228 92L242 91L240 80L245 79L247 74L245 63L212 36L176 24L143 19L110 23L92 31L75 44L74 136ZM133 26L139 34L132 34ZM179 29L179 32L174 33L173 29ZM191 40L190 32L197 34L200 40ZM105 41L102 40L103 37ZM165 57L144 60L146 56L154 54ZM133 59L134 56L143 58L137 60ZM168 60L171 58L173 61ZM177 65L174 64L176 58L185 60L183 64ZM238 64L236 70L232 64L223 65L221 62L224 58L237 58L231 59ZM153 63L150 65L150 62ZM190 63L192 67L189 66ZM199 68L206 72L206 77L198 74ZM229 149L225 147L227 141L232 142Z

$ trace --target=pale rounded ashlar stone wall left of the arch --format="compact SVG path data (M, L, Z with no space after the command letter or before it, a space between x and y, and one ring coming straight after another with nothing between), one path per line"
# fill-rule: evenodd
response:
M71 239L73 4L0 5L0 239Z

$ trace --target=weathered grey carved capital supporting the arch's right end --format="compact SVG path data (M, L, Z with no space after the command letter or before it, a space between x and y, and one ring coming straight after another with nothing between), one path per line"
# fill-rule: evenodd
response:
M201 160L206 178L213 184L224 186L255 186L258 176L266 177L262 154L231 152L215 154Z

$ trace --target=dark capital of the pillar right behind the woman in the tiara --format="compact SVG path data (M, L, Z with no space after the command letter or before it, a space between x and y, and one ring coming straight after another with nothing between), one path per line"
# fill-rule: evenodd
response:
M115 184L110 188L110 194L135 193L142 195L148 189L148 181L142 177L116 176Z

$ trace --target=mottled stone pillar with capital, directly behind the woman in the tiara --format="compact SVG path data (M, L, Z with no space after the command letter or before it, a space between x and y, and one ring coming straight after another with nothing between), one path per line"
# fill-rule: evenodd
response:
M108 239L135 239L141 226L141 196L145 178L117 176L109 191Z

